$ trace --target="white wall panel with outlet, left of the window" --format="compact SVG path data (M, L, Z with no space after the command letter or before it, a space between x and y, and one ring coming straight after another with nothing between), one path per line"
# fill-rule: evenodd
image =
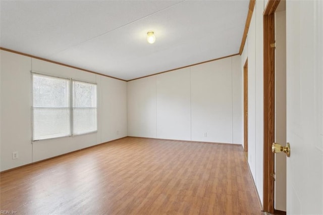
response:
M32 162L31 58L1 50L1 70L1 171L4 171ZM18 151L18 159L12 159L13 151Z

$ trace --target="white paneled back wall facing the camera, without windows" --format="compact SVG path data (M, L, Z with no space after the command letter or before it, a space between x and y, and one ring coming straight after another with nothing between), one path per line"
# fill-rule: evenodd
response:
M128 82L128 135L241 144L240 64L235 56Z

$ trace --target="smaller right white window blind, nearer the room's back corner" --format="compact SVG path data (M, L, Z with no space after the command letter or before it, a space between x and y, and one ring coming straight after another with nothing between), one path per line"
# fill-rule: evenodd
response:
M73 80L73 134L97 130L96 84Z

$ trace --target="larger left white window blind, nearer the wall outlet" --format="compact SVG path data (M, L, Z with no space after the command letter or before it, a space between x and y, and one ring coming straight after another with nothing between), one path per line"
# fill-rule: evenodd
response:
M71 135L69 79L32 75L33 140Z

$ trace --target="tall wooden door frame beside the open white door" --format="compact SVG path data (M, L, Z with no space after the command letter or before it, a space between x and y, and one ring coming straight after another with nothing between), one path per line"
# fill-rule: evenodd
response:
M280 0L269 0L263 12L263 210L275 213L275 12Z

